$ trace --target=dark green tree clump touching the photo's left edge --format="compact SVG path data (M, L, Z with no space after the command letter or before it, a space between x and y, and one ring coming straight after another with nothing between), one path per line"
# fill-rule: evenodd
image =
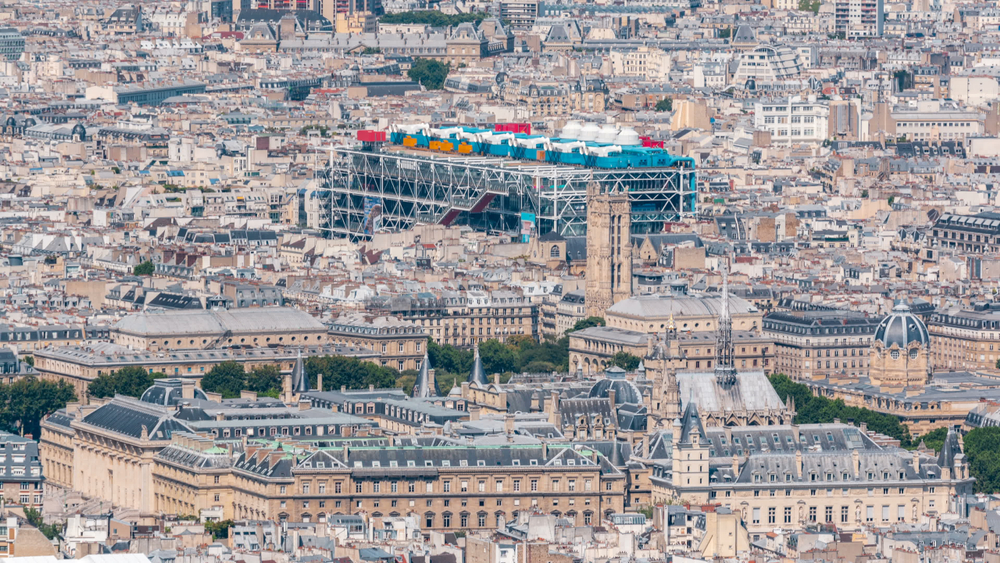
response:
M0 426L22 436L38 437L42 417L75 400L73 386L65 381L25 377L0 385Z

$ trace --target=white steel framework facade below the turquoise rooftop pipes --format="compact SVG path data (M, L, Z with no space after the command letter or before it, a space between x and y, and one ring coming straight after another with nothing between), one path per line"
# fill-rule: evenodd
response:
M322 172L329 236L369 238L417 223L517 231L522 213L537 234L586 234L587 184L625 191L632 231L655 233L694 213L695 171L676 168L590 169L490 157L423 155L336 149Z

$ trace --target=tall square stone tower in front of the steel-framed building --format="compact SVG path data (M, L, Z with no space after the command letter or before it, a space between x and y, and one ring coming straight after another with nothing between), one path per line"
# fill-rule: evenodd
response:
M587 186L587 315L603 317L632 296L632 203L626 192Z

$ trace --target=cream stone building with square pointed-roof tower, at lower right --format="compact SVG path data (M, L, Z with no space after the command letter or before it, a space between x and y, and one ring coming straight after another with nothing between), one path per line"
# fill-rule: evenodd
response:
M742 515L753 539L775 528L860 530L964 514L974 482L954 432L935 459L839 423L706 431L689 404L672 440L671 461L654 466L653 502L718 503Z

